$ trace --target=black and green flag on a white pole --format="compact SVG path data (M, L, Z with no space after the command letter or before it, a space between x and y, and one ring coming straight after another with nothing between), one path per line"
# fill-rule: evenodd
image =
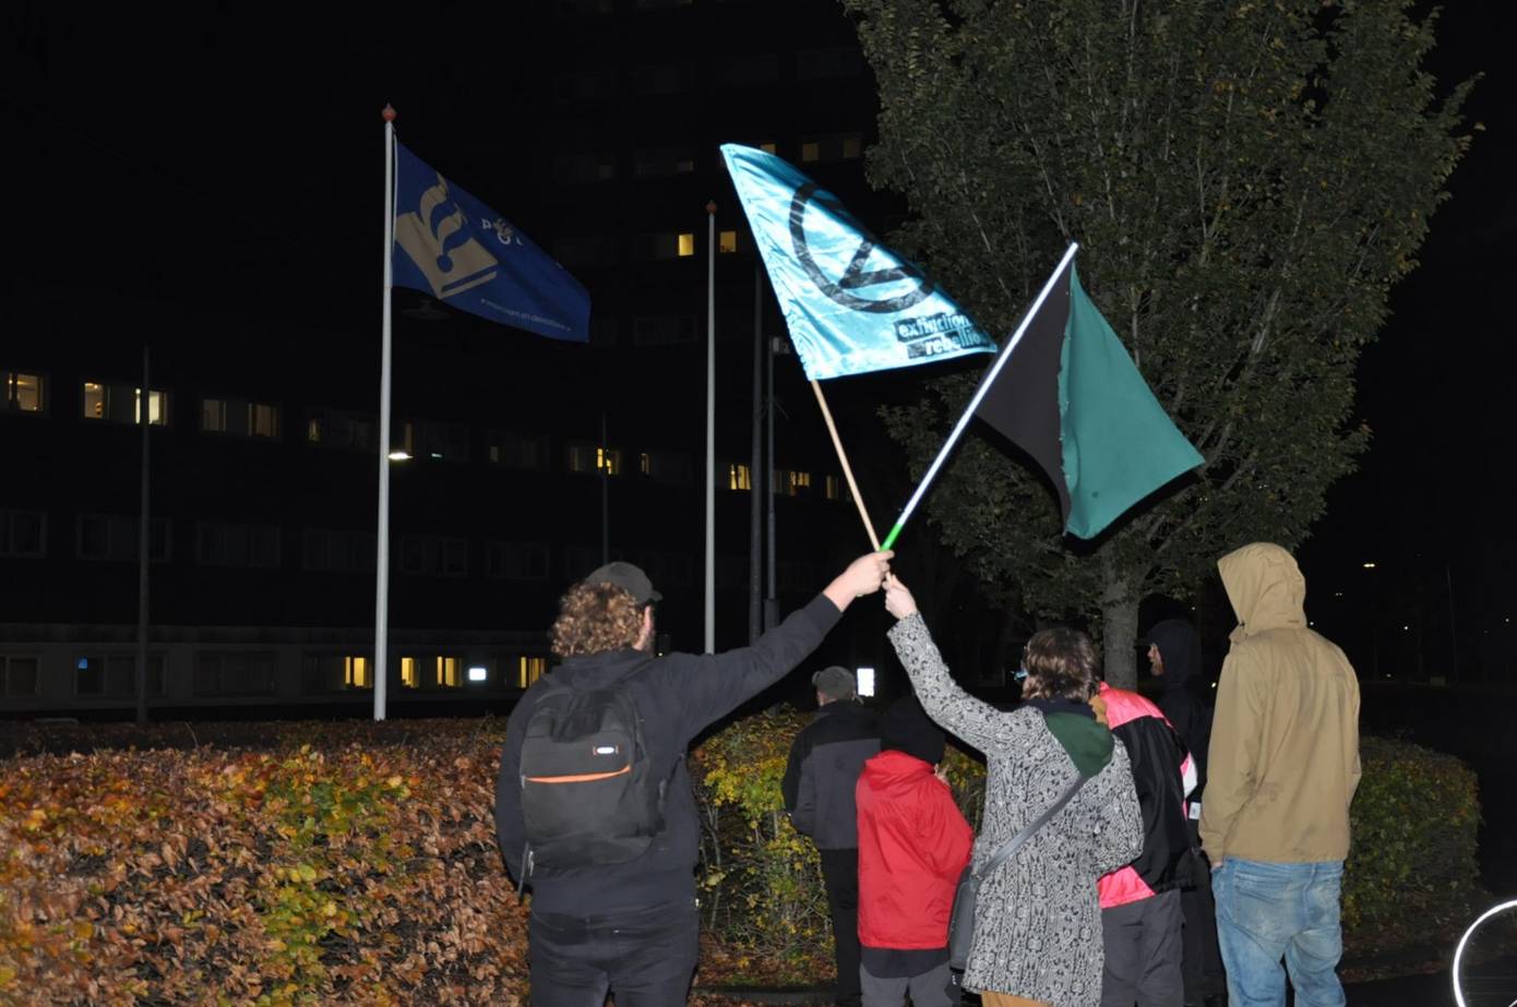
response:
M1080 287L1074 256L980 388L975 416L1048 473L1080 538L1204 461Z

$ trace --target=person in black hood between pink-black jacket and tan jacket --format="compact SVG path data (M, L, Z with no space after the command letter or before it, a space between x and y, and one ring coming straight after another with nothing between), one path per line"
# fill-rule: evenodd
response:
M1159 710L1195 760L1197 783L1188 802L1189 827L1195 855L1204 860L1200 854L1200 819L1206 790L1206 749L1212 740L1212 704L1201 675L1201 637L1188 620L1165 619L1154 623L1147 642L1150 670L1164 684ZM1206 867L1204 863L1201 866ZM1227 981L1217 948L1211 871L1192 874L1195 884L1180 893L1180 913L1185 918L1185 1002L1211 1005L1221 1002Z

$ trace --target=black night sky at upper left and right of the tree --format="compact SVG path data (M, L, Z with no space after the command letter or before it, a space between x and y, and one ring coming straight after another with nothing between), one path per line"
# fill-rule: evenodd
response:
M522 165L543 161L534 123L551 114L555 53L532 44L543 15L519 9L549 5L492 6L343 18L314 6L202 5L173 18L12 6L0 15L5 287L146 288L378 335L385 102L410 146L549 246L552 208L522 191ZM1302 552L1329 632L1364 622L1359 599L1391 619L1396 605L1452 608L1471 637L1517 616L1514 27L1509 3L1459 0L1443 15L1429 68L1444 83L1485 73L1467 106L1484 130L1364 353L1371 449Z

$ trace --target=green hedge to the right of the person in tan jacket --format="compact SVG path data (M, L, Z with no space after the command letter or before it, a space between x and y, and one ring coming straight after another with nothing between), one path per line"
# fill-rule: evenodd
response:
M1350 808L1344 930L1352 939L1355 931L1409 927L1405 939L1412 942L1468 925L1479 877L1475 773L1452 755L1406 742L1367 737L1359 751L1364 778Z

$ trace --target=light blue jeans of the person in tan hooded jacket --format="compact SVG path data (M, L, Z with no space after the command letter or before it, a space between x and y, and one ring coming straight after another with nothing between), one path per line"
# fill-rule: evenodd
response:
M1297 1007L1344 1007L1336 972L1343 955L1341 889L1341 860L1262 863L1229 857L1212 872L1229 1007L1285 1007L1286 971Z

